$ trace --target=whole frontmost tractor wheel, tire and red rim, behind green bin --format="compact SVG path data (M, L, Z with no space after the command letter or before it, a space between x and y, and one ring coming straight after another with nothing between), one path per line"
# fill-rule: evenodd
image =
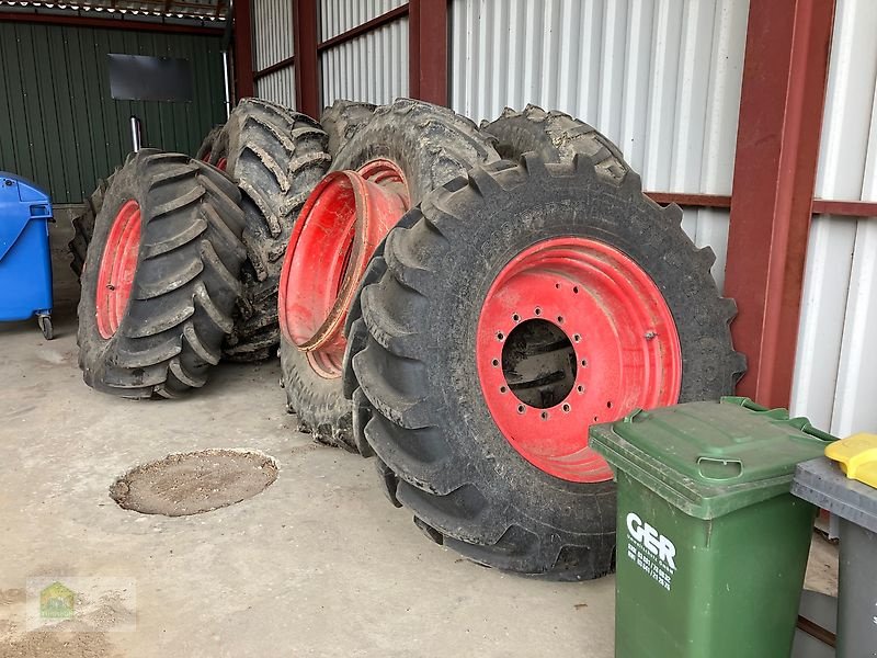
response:
M730 394L745 367L711 250L597 166L529 154L428 196L372 260L345 370L395 504L469 559L563 580L614 568L588 427Z

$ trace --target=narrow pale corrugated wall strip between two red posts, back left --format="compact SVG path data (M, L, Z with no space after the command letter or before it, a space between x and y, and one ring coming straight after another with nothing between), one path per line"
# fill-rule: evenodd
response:
M253 67L265 69L295 53L291 0L252 0ZM255 95L295 107L295 67L287 66L255 81Z

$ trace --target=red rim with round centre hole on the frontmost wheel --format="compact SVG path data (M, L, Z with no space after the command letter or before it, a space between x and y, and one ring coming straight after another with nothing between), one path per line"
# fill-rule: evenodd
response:
M537 468L577 483L612 478L588 446L592 423L675 404L682 384L658 286L625 253L585 238L539 242L503 268L481 307L476 360L500 432Z

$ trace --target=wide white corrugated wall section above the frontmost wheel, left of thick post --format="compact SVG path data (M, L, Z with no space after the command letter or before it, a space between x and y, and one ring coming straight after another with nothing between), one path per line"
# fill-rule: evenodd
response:
M595 126L658 192L729 194L749 2L453 0L451 102L476 121L535 103ZM686 209L724 282L728 213Z

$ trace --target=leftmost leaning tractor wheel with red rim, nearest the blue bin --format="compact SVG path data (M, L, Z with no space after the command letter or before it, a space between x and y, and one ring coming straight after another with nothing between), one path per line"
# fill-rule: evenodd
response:
M240 192L217 169L143 149L107 189L82 271L79 365L128 398L200 387L231 331L247 256Z

